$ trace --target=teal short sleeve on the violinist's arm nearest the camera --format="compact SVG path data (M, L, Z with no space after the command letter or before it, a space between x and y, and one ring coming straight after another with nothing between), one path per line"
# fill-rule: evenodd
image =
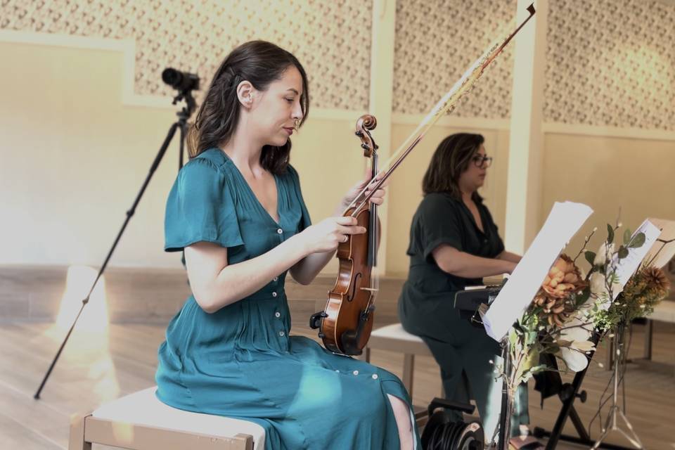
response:
M235 202L226 175L195 158L178 174L165 214L165 251L178 252L205 241L225 248L243 245Z

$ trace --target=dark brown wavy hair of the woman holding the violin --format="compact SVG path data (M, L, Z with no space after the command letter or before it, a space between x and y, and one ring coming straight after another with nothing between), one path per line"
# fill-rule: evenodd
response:
M221 63L200 106L195 123L188 133L190 158L209 148L224 145L232 137L240 116L237 86L248 80L255 89L264 91L271 82L283 77L283 72L295 66L302 76L302 122L309 113L307 74L292 53L267 41L241 44ZM285 171L290 157L290 139L281 147L264 146L260 165L273 174Z

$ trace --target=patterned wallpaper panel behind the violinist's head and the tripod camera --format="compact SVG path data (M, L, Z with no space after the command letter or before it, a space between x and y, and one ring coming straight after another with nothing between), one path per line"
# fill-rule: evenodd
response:
M372 0L0 0L0 29L136 39L137 94L172 94L167 66L203 89L233 47L266 39L295 53L319 108L366 109Z

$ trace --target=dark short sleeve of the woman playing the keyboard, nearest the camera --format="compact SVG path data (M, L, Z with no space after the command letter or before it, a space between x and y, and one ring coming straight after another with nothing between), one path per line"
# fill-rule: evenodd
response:
M432 252L445 244L462 251L462 228L454 200L443 194L428 194L420 204L420 243L423 257L432 262Z

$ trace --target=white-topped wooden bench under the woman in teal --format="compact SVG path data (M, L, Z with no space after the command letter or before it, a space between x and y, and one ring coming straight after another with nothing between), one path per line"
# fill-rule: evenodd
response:
M155 397L156 389L134 392L72 420L68 450L91 450L91 444L134 450L264 448L260 425L172 408Z

